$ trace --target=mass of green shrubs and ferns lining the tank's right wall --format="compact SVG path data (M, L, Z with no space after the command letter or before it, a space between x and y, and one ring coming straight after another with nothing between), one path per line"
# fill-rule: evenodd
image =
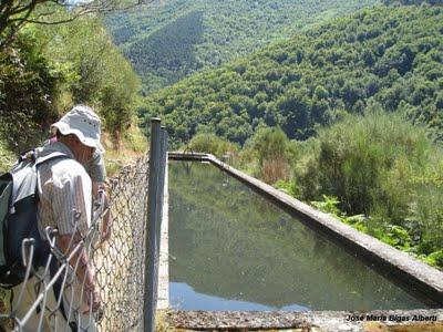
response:
M256 174L357 229L443 268L443 146L404 115L368 108L348 115L316 138L289 142L281 131L255 139ZM281 137L281 138L280 138ZM278 139L278 141L277 141ZM276 142L281 162L262 167ZM290 147L290 148L288 148ZM239 164L241 167L241 163ZM281 175L284 174L284 175ZM291 178L288 180L288 178Z

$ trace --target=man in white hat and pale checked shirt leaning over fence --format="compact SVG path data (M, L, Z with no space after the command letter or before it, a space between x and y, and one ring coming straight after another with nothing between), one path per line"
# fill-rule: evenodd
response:
M43 310L43 331L96 331L94 312L101 298L90 257L89 230L92 221L92 181L83 165L93 159L100 143L100 118L87 106L78 105L51 126L56 132L56 142L43 146L38 157L54 152L66 155L41 165L38 169L39 204L38 226L42 238L48 227L58 229L55 246L62 258L66 258L83 241L82 250L73 255L68 283L59 295L48 294L45 308L39 308L24 331L37 331L39 312ZM60 257L59 257L60 259ZM27 298L17 303L18 317L23 317L35 301L38 283L30 279ZM49 281L51 276L45 276ZM41 287L41 282L39 284ZM20 286L19 286L20 287ZM70 329L71 328L71 329Z

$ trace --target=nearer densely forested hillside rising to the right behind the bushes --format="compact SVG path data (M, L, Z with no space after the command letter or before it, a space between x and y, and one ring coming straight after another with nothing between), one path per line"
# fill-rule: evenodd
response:
M378 7L195 74L146 98L174 142L212 132L245 143L264 126L306 139L377 104L443 138L443 9Z

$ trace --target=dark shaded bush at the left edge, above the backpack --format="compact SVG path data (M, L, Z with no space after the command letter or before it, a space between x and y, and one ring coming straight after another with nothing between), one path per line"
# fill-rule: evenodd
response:
M28 31L0 52L0 139L14 153L37 146L58 117L52 104L58 76L40 48Z

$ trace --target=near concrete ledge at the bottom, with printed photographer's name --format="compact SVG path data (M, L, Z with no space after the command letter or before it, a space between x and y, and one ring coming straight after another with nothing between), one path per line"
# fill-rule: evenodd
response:
M166 321L178 329L301 331L443 331L443 310L392 311L307 311L307 312L239 312L239 311L167 311Z

